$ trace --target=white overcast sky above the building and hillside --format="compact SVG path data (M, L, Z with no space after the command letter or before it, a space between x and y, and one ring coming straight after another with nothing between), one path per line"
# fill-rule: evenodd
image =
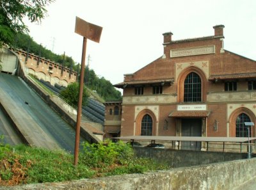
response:
M83 37L76 16L102 26L100 43L88 40L86 57L99 77L116 84L163 55L163 33L173 40L214 35L223 24L224 48L256 60L255 0L56 0L29 35L44 47L81 63ZM88 61L86 60L86 65Z

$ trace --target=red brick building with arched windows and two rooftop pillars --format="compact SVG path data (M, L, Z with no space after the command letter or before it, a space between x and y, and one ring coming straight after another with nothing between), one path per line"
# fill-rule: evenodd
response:
M164 33L163 56L114 85L124 90L121 136L248 136L256 61L223 49L224 26L213 28L213 36L185 40Z

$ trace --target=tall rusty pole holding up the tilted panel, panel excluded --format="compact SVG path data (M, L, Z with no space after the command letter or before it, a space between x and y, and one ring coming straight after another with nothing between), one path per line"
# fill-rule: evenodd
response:
M74 166L77 166L77 162L78 162L80 124L81 124L83 89L84 89L84 67L85 67L85 55L86 55L86 42L87 42L87 38L84 37L82 61L81 61L80 84L79 84L79 98L78 98L78 105L77 105L76 144L75 144L75 152L74 152Z

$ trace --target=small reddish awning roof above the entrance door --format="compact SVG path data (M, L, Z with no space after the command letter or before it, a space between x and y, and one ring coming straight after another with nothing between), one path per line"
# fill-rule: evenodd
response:
M173 111L170 113L170 117L175 118L196 118L196 117L207 117L210 115L210 111Z

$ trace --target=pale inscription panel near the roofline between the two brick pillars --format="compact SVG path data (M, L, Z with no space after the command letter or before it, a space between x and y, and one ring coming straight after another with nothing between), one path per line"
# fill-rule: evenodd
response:
M170 52L171 58L183 57L183 56L194 56L200 54L214 54L215 45L202 46L202 47L191 47L184 49L172 49Z

